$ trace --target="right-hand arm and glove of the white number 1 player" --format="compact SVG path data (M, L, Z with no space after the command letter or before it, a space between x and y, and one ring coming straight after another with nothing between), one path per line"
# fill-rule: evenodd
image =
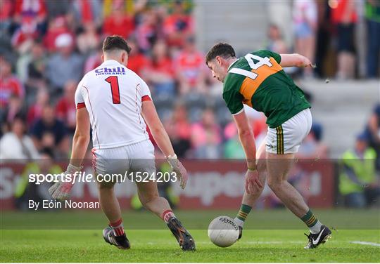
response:
M167 135L163 123L160 121L158 117L156 107L154 106L151 100L145 100L142 103L142 116L148 124L149 129L151 130L152 136L156 141L158 147L165 155L167 162L172 167L172 170L177 173L177 176L181 180L181 187L184 189L187 181L187 172L182 166L181 162L177 159L177 155L173 150L172 143L170 142L170 138Z

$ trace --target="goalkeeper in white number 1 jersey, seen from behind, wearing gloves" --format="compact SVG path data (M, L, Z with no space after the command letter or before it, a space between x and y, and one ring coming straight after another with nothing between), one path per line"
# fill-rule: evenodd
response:
M75 93L77 127L65 175L80 171L89 144L91 124L94 170L98 176L122 171L151 176L156 168L154 147L146 132L148 124L183 189L187 180L186 169L177 159L158 118L148 86L126 67L130 51L127 41L121 37L107 37L103 42L103 63L80 81ZM103 230L103 238L119 249L129 249L114 184L98 182L101 209L109 220L108 227ZM72 183L58 182L49 192L54 199L68 199L71 188ZM156 181L137 182L137 189L141 203L165 220L179 246L186 251L195 250L194 239L175 217L167 200L159 196Z

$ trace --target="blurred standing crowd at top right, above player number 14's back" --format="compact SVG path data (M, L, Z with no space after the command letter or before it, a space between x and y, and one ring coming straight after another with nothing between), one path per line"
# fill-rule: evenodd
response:
M270 25L267 48L300 53L315 62L317 68L305 68L302 77L380 77L379 0L294 0L289 11L293 30L282 21Z

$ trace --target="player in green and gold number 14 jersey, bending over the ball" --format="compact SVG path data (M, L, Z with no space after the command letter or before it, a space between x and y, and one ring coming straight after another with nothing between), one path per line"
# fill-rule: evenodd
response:
M294 155L310 131L312 116L305 94L282 67L312 67L310 60L299 54L272 51L254 51L236 58L232 46L218 43L206 55L206 64L213 77L223 83L223 99L234 117L246 153L246 191L234 219L240 230L267 180L274 194L308 225L310 235L305 249L326 242L331 231L319 222L287 181ZM267 117L267 136L257 152L243 104Z

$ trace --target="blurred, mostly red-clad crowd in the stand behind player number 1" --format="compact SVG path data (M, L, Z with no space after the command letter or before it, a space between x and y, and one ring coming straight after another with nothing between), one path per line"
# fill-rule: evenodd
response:
M113 34L132 47L128 67L150 86L179 157L244 157L220 96L222 84L212 78L196 48L192 1L0 3L2 159L35 159L46 149L54 157L69 157L77 83L101 64L102 41ZM269 48L281 52L274 42ZM259 144L266 133L265 117L247 112ZM318 124L313 127L322 135ZM316 133L301 149L307 157L327 155L318 147L321 136ZM319 149L323 151L317 153Z

